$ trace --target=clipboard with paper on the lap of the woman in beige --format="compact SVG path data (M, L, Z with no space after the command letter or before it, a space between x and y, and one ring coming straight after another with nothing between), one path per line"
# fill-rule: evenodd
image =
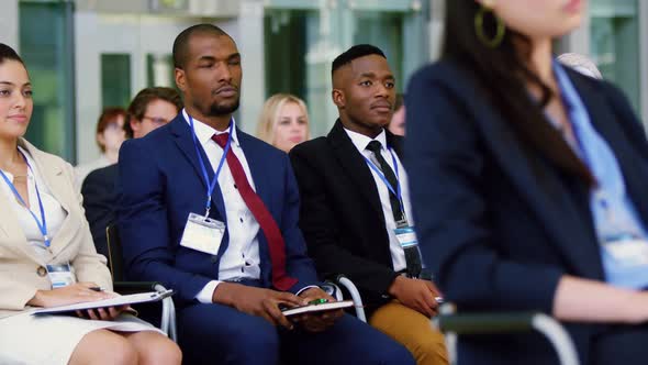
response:
M103 300L86 301L86 302L81 302L81 303L58 306L58 307L51 307L51 308L41 308L41 309L34 310L32 312L32 316L66 314L68 312L75 312L77 310L153 302L153 301L163 300L164 298L170 297L172 295L174 295L174 290L132 294L132 295L127 295L127 296L119 296L119 297L103 299Z

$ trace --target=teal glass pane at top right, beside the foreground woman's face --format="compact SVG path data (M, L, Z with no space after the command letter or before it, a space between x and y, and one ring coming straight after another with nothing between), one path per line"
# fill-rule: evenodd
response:
M637 0L590 3L590 51L603 77L618 85L640 113L639 18Z

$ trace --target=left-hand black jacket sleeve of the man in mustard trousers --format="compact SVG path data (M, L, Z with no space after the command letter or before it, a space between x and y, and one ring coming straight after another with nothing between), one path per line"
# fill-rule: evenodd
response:
M297 146L290 152L290 158L302 196L300 226L317 270L324 275L344 274L364 290L387 294L398 274L343 247L338 218L329 207L332 202L326 199L325 180L335 176L322 176L309 163L308 155L312 153L312 150L306 152Z

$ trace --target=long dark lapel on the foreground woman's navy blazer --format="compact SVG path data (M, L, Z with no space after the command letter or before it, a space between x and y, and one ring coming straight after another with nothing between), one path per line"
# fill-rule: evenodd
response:
M466 110L474 114L474 120L478 121L476 126L483 134L493 158L502 166L504 174L513 181L518 193L546 228L550 239L548 244L561 252L579 273L603 278L599 245L593 230L574 229L582 228L583 224L592 228L591 213L586 206L588 191L579 185L576 186L574 196L574 190L569 189L570 186L556 168L541 157L534 161L539 164L536 172L529 163L529 158L534 157L527 157L529 153L523 148L501 115L483 101L479 89L459 87L458 84L461 82L456 82L455 79L466 78L461 71L453 69L448 70L448 74L446 76L453 81L445 84L466 100ZM465 82L462 85L473 85ZM537 153L532 152L532 155L537 156ZM583 215L583 212L586 214ZM583 221L583 217L588 219Z

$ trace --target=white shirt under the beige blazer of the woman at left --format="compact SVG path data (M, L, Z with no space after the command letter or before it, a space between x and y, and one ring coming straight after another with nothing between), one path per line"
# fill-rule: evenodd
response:
M63 221L67 217L67 212L63 209L58 200L56 200L56 198L52 196L52 193L49 192L49 189L43 181L43 178L41 178L36 164L34 163L30 154L22 147L19 147L19 150L25 155L31 166L31 168L27 168L27 195L30 200L30 209L27 210L27 208L25 208L23 204L19 202L9 185L7 185L4 182L4 179L1 178L0 186L2 186L2 188L0 190L2 190L3 193L7 196L10 202L9 204L15 213L18 223L24 232L30 246L34 247L36 253L38 253L40 255L46 256L49 253L47 251L48 248L45 246L43 233L41 232L41 229L34 221L34 218L30 213L31 210L38 219L38 222L43 223L41 217L41 206L38 204L38 195L36 193L36 184L38 185L38 192L41 193L43 211L45 212L45 220L47 222L47 235L51 239L56 235L56 232L58 232L58 229L60 228ZM4 173L7 178L9 178L11 182L13 182L13 175L4 170L2 172Z

